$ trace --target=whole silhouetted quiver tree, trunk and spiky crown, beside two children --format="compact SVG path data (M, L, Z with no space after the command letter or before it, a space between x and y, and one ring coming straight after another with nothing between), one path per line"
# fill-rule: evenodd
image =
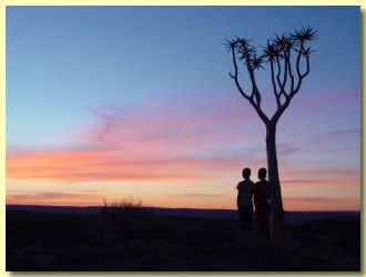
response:
M232 53L234 72L230 76L234 80L240 93L246 99L266 127L266 152L268 181L274 192L271 199L272 235L284 230L284 209L278 175L276 152L276 126L279 117L288 107L292 99L298 93L303 80L311 72L309 57L313 50L306 44L316 39L317 32L313 28L302 28L294 33L283 33L268 39L267 44L260 54L252 41L236 37L226 40L227 51ZM252 92L248 94L238 80L238 64L248 74ZM256 84L255 72L270 66L273 93L276 100L276 111L268 117L261 107L262 96ZM303 69L305 68L305 69Z

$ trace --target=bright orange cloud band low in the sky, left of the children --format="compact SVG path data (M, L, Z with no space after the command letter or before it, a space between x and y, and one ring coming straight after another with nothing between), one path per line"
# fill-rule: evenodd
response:
M130 160L120 151L43 151L7 158L7 179L63 183L166 182L203 178L214 168L240 163L235 158Z

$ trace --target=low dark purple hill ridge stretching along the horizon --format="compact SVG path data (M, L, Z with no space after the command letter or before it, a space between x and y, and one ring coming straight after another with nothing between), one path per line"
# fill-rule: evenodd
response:
M100 206L73 207L73 206L40 206L40 205L7 205L7 211L27 211L35 213L78 213L78 214L95 214L101 209ZM161 207L143 207L148 213L161 216L185 216L185 217L203 217L203 218L223 218L238 219L237 212L234 209L199 209L199 208L161 208ZM321 220L326 218L339 217L359 217L359 211L353 212L286 212L285 218L287 223L304 223Z

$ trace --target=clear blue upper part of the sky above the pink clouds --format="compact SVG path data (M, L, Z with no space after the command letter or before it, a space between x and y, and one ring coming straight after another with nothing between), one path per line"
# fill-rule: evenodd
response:
M303 25L321 35L304 89L359 91L358 8L8 7L8 142L37 144L27 125L47 140L101 104L225 98L235 90L225 38L264 44Z

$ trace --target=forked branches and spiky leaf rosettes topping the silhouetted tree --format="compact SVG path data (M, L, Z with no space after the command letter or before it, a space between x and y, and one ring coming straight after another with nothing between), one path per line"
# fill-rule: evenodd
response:
M314 52L311 47L305 47L305 44L315 39L317 39L317 31L307 27L295 30L293 33L275 34L261 50L247 38L235 37L226 40L226 49L232 53L234 64L234 73L230 72L230 76L234 79L241 94L250 101L264 123L276 123L289 105L292 98L299 91L303 79L309 73L309 57ZM292 59L293 52L296 53L296 57ZM302 72L301 69L302 60L305 60L305 72ZM251 94L247 94L240 84L237 62L244 65L250 75ZM277 102L277 110L271 119L261 109L262 98L255 81L255 71L265 69L264 64L271 66L272 85ZM296 80L294 70L296 70ZM286 88L287 79L291 83L289 90Z

